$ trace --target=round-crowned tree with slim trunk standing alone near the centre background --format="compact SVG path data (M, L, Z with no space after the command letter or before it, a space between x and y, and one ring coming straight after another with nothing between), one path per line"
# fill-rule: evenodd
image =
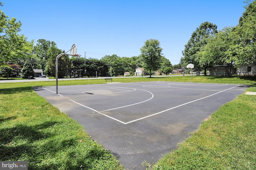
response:
M160 62L162 57L162 48L160 42L156 39L149 39L145 42L145 45L140 49L143 67L150 72L160 68Z

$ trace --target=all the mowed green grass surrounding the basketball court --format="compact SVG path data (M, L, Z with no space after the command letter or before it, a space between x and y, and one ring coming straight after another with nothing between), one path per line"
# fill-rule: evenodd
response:
M191 82L190 76L116 78L113 82ZM256 77L193 76L193 82L247 84ZM101 84L104 79L64 80L61 85ZM0 160L27 160L28 169L122 170L118 159L86 129L32 90L49 82L0 83ZM240 95L148 169L256 169L256 96ZM147 167L145 167L146 169Z

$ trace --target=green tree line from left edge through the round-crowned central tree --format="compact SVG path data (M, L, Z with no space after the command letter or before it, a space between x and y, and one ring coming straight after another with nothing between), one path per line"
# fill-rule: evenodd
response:
M3 3L0 5L2 6ZM33 69L42 69L48 76L56 75L56 57L64 53L64 50L58 49L54 41L38 39L36 45L34 40L27 41L27 37L18 34L21 22L16 21L15 18L9 19L2 10L0 10L0 24L0 76L8 78L14 72L21 71L22 78L27 78L34 74ZM145 67L146 73L150 76L156 69L160 69L164 74L170 73L172 64L162 56L160 42L150 39L146 43L141 48L142 54L134 57L105 55L99 60L63 55L58 60L58 76L118 76L124 75L124 72L133 75L138 67Z

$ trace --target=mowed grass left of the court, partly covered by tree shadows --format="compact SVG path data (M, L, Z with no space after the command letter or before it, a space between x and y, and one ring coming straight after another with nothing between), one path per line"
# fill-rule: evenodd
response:
M82 125L32 90L41 83L0 84L0 160L27 160L30 170L122 170Z

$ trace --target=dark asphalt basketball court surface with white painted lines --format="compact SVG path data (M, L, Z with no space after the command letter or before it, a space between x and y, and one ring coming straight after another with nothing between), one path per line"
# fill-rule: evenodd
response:
M86 127L127 169L146 169L177 149L220 106L248 88L238 84L135 82L37 87L34 90Z

